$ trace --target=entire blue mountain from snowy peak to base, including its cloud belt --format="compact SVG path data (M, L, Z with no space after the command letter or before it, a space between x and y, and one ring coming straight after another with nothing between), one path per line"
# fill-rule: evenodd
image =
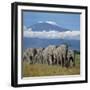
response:
M23 48L39 48L48 45L69 44L74 50L80 50L80 32L70 31L52 22L38 22L24 27Z

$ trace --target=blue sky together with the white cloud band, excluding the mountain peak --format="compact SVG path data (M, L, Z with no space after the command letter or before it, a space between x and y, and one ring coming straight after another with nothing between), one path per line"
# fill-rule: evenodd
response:
M33 31L31 25L36 23L49 23L68 29L66 32ZM46 12L23 12L24 37L45 39L79 39L80 38L80 14L71 13L46 13Z

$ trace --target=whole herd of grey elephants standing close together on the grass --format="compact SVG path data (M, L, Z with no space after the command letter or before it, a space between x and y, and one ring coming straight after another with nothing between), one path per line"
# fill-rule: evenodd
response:
M27 48L23 52L23 61L29 64L75 66L75 53L67 45L49 45L46 48Z

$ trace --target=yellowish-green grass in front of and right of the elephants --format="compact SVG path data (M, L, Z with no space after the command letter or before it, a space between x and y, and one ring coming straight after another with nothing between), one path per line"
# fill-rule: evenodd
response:
M59 65L28 64L23 62L22 76L55 76L55 75L79 75L80 74L80 54L75 55L75 67L61 67Z

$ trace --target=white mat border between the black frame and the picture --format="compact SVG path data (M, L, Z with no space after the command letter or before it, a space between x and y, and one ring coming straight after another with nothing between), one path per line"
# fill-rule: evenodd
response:
M21 78L21 10L45 10L82 13L80 16L80 75L47 76ZM63 82L85 80L85 10L71 8L52 8L36 6L18 6L18 84Z

